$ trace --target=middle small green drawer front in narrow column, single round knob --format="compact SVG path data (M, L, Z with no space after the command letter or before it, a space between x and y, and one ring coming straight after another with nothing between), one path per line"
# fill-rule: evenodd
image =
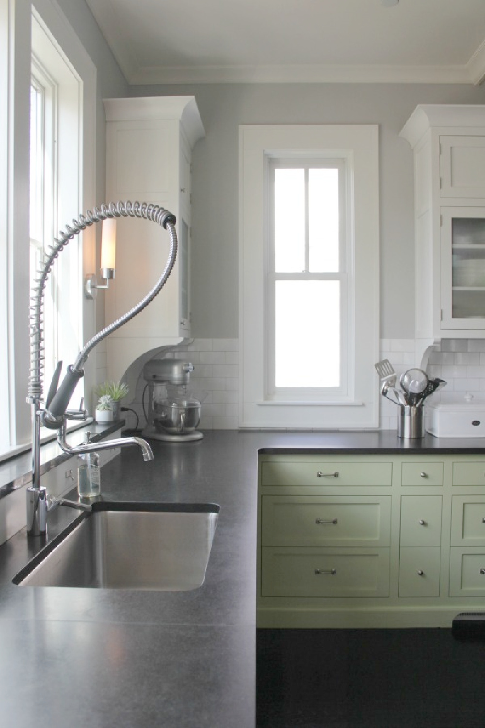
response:
M441 544L441 496L402 496L401 546Z

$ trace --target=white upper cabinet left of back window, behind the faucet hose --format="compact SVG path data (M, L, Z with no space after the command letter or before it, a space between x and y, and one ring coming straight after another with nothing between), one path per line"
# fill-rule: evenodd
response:
M167 283L140 314L107 339L109 379L120 379L145 352L191 335L191 151L204 137L193 96L105 99L106 199L153 202L177 218L179 248ZM106 324L148 293L167 263L169 234L121 218L116 278L106 292Z

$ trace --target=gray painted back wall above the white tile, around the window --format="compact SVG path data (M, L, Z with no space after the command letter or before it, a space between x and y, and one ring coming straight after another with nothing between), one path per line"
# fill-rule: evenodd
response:
M129 94L195 95L206 130L193 150L193 336L238 336L239 124L368 123L380 124L381 337L414 338L412 149L398 133L418 103L483 104L485 86L181 84Z

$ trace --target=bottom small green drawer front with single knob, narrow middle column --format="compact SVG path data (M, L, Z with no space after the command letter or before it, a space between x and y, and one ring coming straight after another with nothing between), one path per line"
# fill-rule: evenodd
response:
M439 596L441 548L406 546L399 556L399 596Z

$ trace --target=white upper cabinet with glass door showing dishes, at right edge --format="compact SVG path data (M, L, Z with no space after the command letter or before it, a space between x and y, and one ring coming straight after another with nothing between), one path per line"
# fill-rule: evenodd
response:
M417 106L401 136L414 151L415 337L485 336L485 106Z

